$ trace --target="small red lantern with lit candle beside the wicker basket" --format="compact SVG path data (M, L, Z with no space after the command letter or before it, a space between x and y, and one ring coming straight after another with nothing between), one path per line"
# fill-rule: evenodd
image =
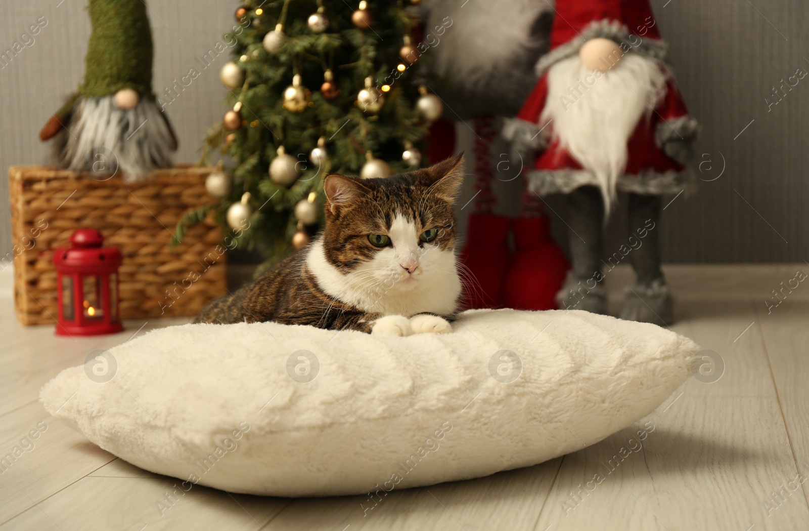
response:
M70 236L73 247L53 254L59 293L57 335L95 336L124 329L118 312L121 251L102 248L103 242L101 232L80 228Z

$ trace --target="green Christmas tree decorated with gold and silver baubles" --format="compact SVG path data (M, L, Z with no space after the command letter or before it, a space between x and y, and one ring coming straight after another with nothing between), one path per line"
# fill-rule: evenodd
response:
M233 60L221 71L230 110L203 155L219 164L207 185L221 201L189 213L177 238L213 210L237 247L259 249L270 265L323 223L328 174L379 177L426 164L419 150L442 103L419 74L415 3L240 6L227 36Z

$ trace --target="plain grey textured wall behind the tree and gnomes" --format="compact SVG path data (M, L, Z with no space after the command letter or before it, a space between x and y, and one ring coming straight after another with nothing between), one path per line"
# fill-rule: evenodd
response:
M483 0L472 0L479 1ZM11 164L36 164L47 155L36 134L49 111L61 104L83 74L89 33L84 3L2 2L0 50L10 47L40 16L48 20L36 42L0 70L3 172ZM221 39L234 23L236 2L151 0L149 5L157 50L155 91L162 93ZM713 166L708 170L709 164L703 164L701 176L714 179L722 157L725 160L721 177L703 182L697 195L680 196L667 208L665 258L688 262L809 259L809 76L781 103L770 109L765 103L782 78L786 80L798 68L809 71L809 2L654 0L653 6L671 45L681 91L704 127L694 168L703 160L701 154L708 154L705 158L713 160ZM180 138L178 161L197 160L206 128L222 115L224 89L218 81L218 66L214 63L204 70L168 106ZM463 125L459 133L463 147L471 153L471 134ZM499 150L494 151L497 159ZM514 210L519 181L501 188L506 196L502 208ZM464 197L472 197L471 186ZM551 205L564 218L563 205L558 201ZM619 210L609 227L608 251L625 240L623 219ZM556 225L563 233L558 219ZM0 253L11 249L12 243L3 178Z

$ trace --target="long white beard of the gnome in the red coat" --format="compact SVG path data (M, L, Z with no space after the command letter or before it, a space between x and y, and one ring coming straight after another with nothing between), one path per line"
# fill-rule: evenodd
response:
M595 175L609 212L626 167L626 143L665 95L667 73L654 59L626 53L612 70L596 75L578 55L551 66L540 125L553 120L554 138Z

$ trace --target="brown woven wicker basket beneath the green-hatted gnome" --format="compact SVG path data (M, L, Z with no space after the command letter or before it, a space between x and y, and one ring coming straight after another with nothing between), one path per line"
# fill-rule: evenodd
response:
M81 172L36 166L9 171L15 247L15 308L23 325L53 324L57 277L53 249L69 244L80 227L104 234L121 249L121 317L193 316L227 291L222 229L213 219L190 227L170 250L172 232L185 212L211 202L205 177L211 168L172 168L150 180L126 184L113 176L97 181ZM213 262L213 265L211 265Z

